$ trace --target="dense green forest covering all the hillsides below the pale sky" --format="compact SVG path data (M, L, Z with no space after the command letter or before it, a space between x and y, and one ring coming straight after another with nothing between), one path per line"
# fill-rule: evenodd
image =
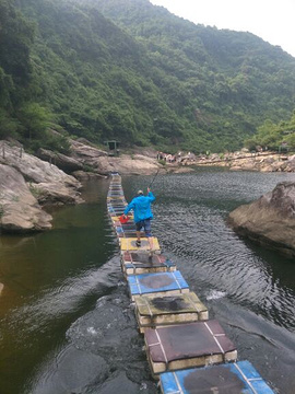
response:
M33 151L67 151L68 135L236 150L288 123L294 99L295 58L251 33L149 0L0 0L0 138Z

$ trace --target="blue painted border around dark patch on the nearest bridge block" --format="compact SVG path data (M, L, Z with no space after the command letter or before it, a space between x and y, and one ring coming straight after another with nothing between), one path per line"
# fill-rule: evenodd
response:
M249 361L162 373L160 375L162 392L163 394L191 394L192 391L186 387L186 382L189 381L190 374L198 371L198 378L201 380L202 372L205 373L204 382L208 380L208 372L213 369L227 369L231 373L234 373L243 385L238 394L274 394ZM217 390L223 390L222 392L225 393L227 384L227 381L223 381L219 387L214 386L214 389L216 392L219 392ZM202 387L198 391L198 387L194 386L193 393L211 394L213 392L212 389L213 387L208 387L208 390L204 390L204 387Z

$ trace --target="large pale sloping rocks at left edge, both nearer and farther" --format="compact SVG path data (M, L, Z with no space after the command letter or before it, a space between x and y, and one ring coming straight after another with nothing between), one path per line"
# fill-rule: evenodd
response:
M83 202L81 183L27 154L20 146L0 141L0 230L35 232L51 229L51 216L43 207Z

